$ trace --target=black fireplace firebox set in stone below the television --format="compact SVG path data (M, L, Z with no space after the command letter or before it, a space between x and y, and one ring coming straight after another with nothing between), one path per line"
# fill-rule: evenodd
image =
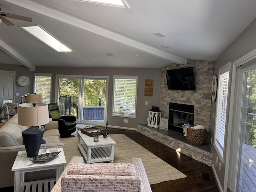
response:
M168 129L183 133L184 124L194 125L194 105L170 102Z

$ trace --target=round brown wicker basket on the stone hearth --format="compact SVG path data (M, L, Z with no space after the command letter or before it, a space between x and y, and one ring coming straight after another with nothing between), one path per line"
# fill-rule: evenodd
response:
M203 145L205 139L205 129L193 129L187 130L187 142L192 145Z

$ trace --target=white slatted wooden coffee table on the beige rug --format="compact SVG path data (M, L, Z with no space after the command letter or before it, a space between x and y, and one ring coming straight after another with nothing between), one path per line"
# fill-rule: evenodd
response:
M99 136L99 141L94 142L93 137L77 131L77 145L87 163L114 162L114 149L116 142L107 136ZM108 150L106 147L110 147Z

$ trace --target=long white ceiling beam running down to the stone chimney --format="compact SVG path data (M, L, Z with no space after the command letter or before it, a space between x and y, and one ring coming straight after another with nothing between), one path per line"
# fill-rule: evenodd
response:
M20 1L20 0L5 0L6 2L10 2L12 4L18 5L20 7L26 8L28 10L34 11L36 13L42 14L44 16L59 20L61 22L64 22L66 24L76 26L78 28L90 31L94 34L98 34L100 36L103 36L105 38L108 38L110 40L114 40L115 42L118 42L119 44L122 44L124 46L128 46L130 48L134 48L136 50L139 50L141 52L145 52L146 54L150 54L152 56L156 56L158 58L168 60L172 63L186 65L186 59L181 58L179 56L176 56L174 54L170 54L168 52L164 52L160 49L154 48L152 46L148 46L146 44L143 44L141 42L138 42L136 40L133 40L131 38L128 38L126 36L122 36L118 33L112 32L110 30L107 30L105 28L96 26L94 24L91 24L89 22L86 22L84 20L80 20L78 18L72 17L68 14L65 14L63 12L53 10L50 8L47 8L45 6L42 6L40 4L36 4L31 1Z

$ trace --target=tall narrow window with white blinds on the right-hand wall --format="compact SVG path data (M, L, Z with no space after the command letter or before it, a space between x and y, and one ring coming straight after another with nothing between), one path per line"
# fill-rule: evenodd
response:
M216 123L214 133L214 146L223 162L225 130L227 125L227 105L228 105L228 78L230 65L220 68L216 104Z

